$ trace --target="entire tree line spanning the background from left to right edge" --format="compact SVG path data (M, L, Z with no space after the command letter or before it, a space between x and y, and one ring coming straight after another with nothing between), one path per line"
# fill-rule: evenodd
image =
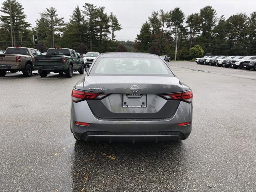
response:
M31 28L31 24L26 22L22 4L17 0L6 0L0 10L0 49L5 50L12 45L11 14L14 46L34 47L32 35L37 33L39 44L36 48L42 52L60 46L80 53L151 52L174 58L177 39L178 59L194 58L195 52L214 55L256 54L256 12L249 16L237 13L229 18L224 15L217 18L212 6L205 6L187 17L179 7L169 12L161 9L152 12L134 41L125 42L115 39L116 32L122 30L118 18L112 12L107 14L104 9L104 6L85 3L81 8L77 6L69 22L65 23L55 8L46 8L36 19L36 26Z

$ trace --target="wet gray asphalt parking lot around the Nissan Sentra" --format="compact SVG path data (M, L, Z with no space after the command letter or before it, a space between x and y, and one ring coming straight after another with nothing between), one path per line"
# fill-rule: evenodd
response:
M170 62L194 93L182 142L78 143L70 94L83 77L0 78L0 191L256 191L256 72Z

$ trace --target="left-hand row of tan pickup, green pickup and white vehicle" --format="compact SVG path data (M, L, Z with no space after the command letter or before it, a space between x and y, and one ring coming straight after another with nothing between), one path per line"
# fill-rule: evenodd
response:
M79 54L68 48L49 48L46 54L42 54L34 48L8 47L5 52L0 50L0 76L5 76L7 71L21 71L25 77L30 77L33 70L38 70L41 77L46 77L50 72L72 77L74 71L84 74L84 69L99 54Z

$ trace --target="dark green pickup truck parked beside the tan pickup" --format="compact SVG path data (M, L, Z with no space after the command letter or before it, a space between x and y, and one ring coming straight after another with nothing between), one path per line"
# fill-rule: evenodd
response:
M65 73L66 77L72 77L73 71L84 74L84 61L76 51L68 48L50 48L46 55L35 56L35 67L41 77L49 72Z

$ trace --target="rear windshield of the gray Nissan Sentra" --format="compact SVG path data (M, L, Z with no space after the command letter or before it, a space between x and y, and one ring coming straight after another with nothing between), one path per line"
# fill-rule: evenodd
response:
M99 58L92 67L93 75L174 76L162 59Z

